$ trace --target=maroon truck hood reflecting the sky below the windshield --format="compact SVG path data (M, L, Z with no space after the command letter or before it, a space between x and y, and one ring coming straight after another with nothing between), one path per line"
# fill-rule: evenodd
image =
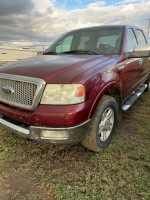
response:
M41 55L6 64L0 73L41 78L47 83L70 83L75 77L112 56Z

